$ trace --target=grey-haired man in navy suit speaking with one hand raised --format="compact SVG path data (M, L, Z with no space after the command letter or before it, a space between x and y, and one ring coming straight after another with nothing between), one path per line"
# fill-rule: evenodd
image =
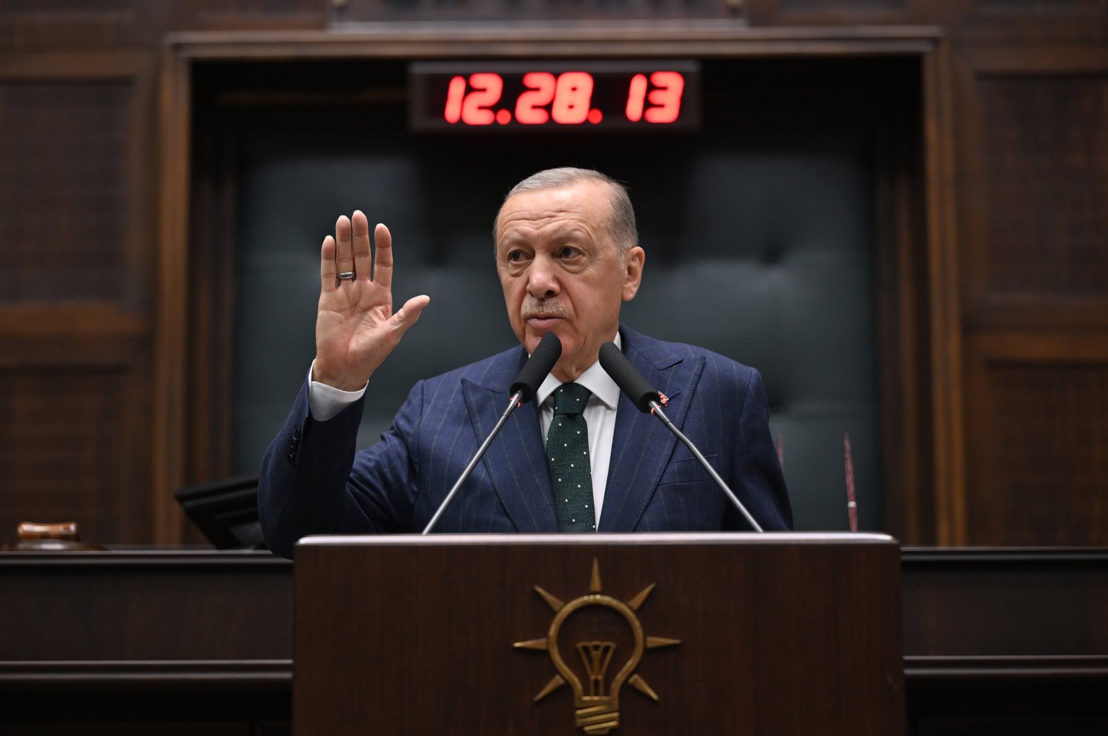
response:
M604 174L553 168L509 192L494 227L496 273L520 346L412 387L372 447L355 447L372 374L428 296L392 310L392 237L361 212L320 252L316 359L266 452L258 509L269 548L306 534L418 532L509 398L540 340L562 355L535 401L515 411L441 517L442 532L749 529L684 444L620 397L597 361L615 341L668 397L667 413L767 530L792 525L758 371L619 324L646 253L626 190Z

